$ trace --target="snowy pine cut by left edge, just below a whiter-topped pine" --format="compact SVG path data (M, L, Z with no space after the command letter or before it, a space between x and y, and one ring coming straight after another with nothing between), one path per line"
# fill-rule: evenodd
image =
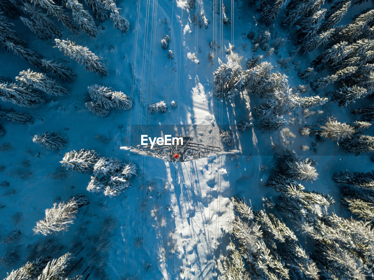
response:
M14 83L0 84L0 98L21 107L31 108L45 102L45 98L39 92Z

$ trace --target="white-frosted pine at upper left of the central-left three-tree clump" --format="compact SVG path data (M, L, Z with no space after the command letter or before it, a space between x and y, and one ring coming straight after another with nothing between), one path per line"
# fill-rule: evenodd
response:
M85 174L93 170L93 165L97 160L98 155L94 150L80 149L79 151L73 150L66 153L60 163L62 163L62 166L65 166L67 170Z

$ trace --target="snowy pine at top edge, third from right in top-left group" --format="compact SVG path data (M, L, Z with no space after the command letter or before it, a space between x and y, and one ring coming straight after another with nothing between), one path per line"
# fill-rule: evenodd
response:
M77 0L66 0L66 6L73 11L73 19L79 24L84 33L96 37L98 30L92 16L83 9Z

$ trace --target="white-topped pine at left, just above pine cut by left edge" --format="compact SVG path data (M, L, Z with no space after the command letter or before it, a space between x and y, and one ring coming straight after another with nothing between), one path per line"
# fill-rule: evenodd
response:
M57 83L55 80L47 77L43 73L37 73L28 69L27 71L19 72L19 76L16 77L22 86L31 86L36 89L39 89L50 95L68 95L68 92L65 87Z

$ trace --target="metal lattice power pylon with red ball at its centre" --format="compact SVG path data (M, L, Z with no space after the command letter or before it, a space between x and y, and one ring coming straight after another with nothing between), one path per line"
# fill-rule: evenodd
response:
M191 141L191 137L182 137L183 145L157 145L154 144L153 148L151 145L146 145L138 148L134 147L121 147L122 150L130 150L132 153L137 153L142 156L157 157L159 159L181 162L195 159L201 159L203 157L218 156L222 154L236 154L239 153L237 150L230 150L227 148L220 148L211 145L204 145ZM178 157L175 158L175 154Z

